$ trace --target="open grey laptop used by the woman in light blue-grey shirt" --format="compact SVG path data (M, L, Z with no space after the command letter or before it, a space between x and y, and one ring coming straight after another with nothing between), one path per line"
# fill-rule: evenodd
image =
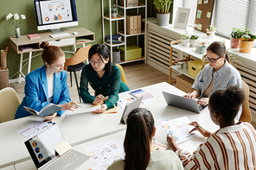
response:
M202 110L207 107L207 105L202 106L197 104L197 101L195 99L184 98L165 91L163 91L163 97L168 105L181 108L183 110L193 111L196 113L202 112Z

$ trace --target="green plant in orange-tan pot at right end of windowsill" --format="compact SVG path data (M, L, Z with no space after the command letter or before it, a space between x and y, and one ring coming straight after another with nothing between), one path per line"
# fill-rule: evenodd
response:
M249 31L246 27L246 29L240 29L240 52L241 53L251 53L252 47L253 47L253 41L256 39L256 35L252 33L252 31Z

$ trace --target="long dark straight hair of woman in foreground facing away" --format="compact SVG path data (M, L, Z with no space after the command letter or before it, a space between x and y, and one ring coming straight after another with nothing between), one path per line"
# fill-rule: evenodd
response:
M125 170L144 170L150 162L150 142L154 131L154 118L149 110L131 110L125 134Z

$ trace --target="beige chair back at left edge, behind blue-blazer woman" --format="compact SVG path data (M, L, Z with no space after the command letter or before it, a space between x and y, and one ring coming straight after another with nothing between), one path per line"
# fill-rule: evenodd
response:
M21 100L13 88L3 88L0 91L0 123L13 120L20 104Z

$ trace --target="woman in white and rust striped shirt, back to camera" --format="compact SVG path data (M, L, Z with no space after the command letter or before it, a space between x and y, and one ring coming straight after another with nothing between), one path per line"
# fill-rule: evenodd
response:
M180 157L184 169L256 169L255 129L250 123L235 123L234 119L244 99L244 92L238 86L214 91L208 109L220 129L211 134L199 123L190 123L195 126L190 133L198 130L208 138L193 154L179 148L174 135L167 135L167 142Z

